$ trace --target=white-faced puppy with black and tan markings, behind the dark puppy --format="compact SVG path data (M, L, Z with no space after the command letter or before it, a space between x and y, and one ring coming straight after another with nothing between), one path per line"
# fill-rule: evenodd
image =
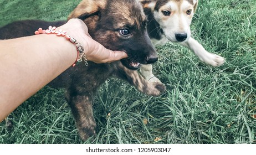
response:
M140 0L147 16L147 32L153 45L174 42L185 46L199 60L211 66L220 66L224 58L209 53L191 37L190 24L198 0ZM142 65L141 74L149 81L160 81L152 74L152 65Z

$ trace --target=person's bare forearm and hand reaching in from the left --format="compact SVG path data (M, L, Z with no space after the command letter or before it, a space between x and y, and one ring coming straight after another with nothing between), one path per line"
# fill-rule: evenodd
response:
M125 58L91 39L86 25L72 19L58 29L66 30L85 48L86 58L107 63ZM76 46L54 34L0 40L0 122L22 102L68 69L76 60ZM85 66L86 67L86 66Z

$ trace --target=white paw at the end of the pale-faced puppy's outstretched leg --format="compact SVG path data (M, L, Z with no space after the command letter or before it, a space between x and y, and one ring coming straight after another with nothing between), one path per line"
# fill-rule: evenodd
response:
M225 63L225 59L217 54L208 53L206 58L203 58L204 63L213 67L221 66Z

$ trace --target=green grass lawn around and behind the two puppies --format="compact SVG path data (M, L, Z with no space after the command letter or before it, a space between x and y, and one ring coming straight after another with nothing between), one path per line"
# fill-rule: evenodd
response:
M96 137L80 141L63 90L45 87L9 116L12 130L0 123L0 143L256 143L255 2L201 0L192 35L227 62L212 68L179 45L158 47L154 72L167 92L150 97L106 81L95 98ZM0 0L0 26L65 19L78 3Z

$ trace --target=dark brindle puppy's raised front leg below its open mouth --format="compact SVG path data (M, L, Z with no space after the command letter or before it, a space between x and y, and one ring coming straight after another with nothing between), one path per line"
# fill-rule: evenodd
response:
M138 71L129 70L121 64L116 71L116 76L128 81L131 85L134 85L137 90L147 95L158 96L166 90L165 85L161 82L147 81L138 73Z

